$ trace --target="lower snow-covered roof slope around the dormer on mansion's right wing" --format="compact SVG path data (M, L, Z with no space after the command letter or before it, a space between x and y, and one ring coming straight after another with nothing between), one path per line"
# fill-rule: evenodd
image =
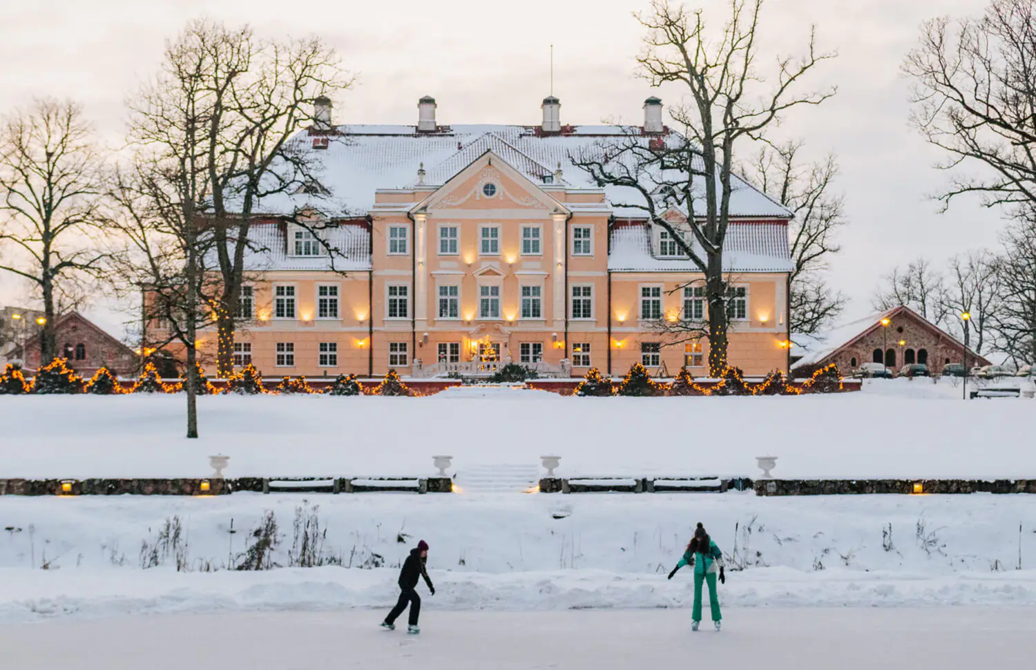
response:
M697 242L693 246L701 253ZM689 258L654 256L651 228L646 225L622 226L612 230L608 269L615 272L700 271ZM789 272L793 269L786 224L729 224L723 249L724 272Z

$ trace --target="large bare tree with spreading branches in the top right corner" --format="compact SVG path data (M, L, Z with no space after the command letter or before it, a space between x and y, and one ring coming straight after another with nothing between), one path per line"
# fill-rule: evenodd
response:
M939 196L986 206L1036 203L1036 17L1031 0L992 0L978 18L933 19L903 70L913 79L911 120L949 154ZM984 167L981 172L963 170ZM959 170L957 170L959 169Z

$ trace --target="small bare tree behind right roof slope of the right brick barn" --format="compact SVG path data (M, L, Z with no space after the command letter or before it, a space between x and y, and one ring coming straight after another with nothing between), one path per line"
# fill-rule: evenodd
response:
M976 336L975 353L989 348L1001 302L997 258L985 250L969 252L950 261L950 271L941 296L946 326L962 333L960 315L969 314L969 329Z

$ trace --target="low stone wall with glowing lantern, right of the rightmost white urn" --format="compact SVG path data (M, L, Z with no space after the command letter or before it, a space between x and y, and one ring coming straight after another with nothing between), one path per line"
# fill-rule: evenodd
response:
M920 491L916 490L920 485ZM1036 479L758 479L760 496L1036 493Z

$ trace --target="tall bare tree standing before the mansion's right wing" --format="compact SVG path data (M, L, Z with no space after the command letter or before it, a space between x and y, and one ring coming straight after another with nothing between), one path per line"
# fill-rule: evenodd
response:
M761 7L762 0L731 0L727 22L713 38L700 9L689 12L669 0L653 0L651 11L637 16L648 30L637 62L652 86L682 87L687 103L670 107L669 114L684 135L645 142L639 128L630 128L573 158L599 185L628 187L630 200L613 204L644 212L704 274L712 374L727 366L723 244L730 196L736 187L747 187L733 175L736 147L761 138L792 108L818 105L834 94L834 89L796 92L810 70L834 56L816 51L815 31L804 55L777 59L766 87L756 41ZM673 209L683 213L686 229L678 230L670 219Z

